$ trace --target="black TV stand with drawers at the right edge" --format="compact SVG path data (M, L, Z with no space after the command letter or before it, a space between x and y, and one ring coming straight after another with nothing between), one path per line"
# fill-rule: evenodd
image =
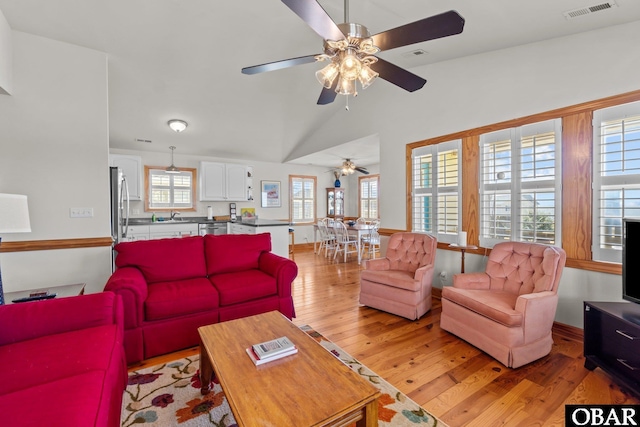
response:
M640 304L585 301L584 357L640 399Z

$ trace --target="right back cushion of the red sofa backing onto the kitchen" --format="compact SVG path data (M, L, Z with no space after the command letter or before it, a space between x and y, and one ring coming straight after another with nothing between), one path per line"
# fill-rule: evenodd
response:
M204 236L207 274L232 273L258 268L262 252L271 252L271 233Z

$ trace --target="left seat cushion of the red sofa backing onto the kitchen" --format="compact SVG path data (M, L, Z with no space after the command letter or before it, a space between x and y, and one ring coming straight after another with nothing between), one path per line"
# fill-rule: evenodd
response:
M218 308L218 292L205 278L156 282L144 302L148 321L200 313Z

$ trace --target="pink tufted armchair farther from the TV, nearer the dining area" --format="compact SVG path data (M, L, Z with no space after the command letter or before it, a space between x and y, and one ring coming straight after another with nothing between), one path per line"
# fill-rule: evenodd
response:
M436 244L429 234L393 234L385 258L364 264L360 304L411 320L429 311Z

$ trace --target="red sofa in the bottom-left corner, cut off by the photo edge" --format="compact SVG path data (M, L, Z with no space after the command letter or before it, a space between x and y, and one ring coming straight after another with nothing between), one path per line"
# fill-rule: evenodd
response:
M111 292L0 306L0 424L120 426L123 307Z

